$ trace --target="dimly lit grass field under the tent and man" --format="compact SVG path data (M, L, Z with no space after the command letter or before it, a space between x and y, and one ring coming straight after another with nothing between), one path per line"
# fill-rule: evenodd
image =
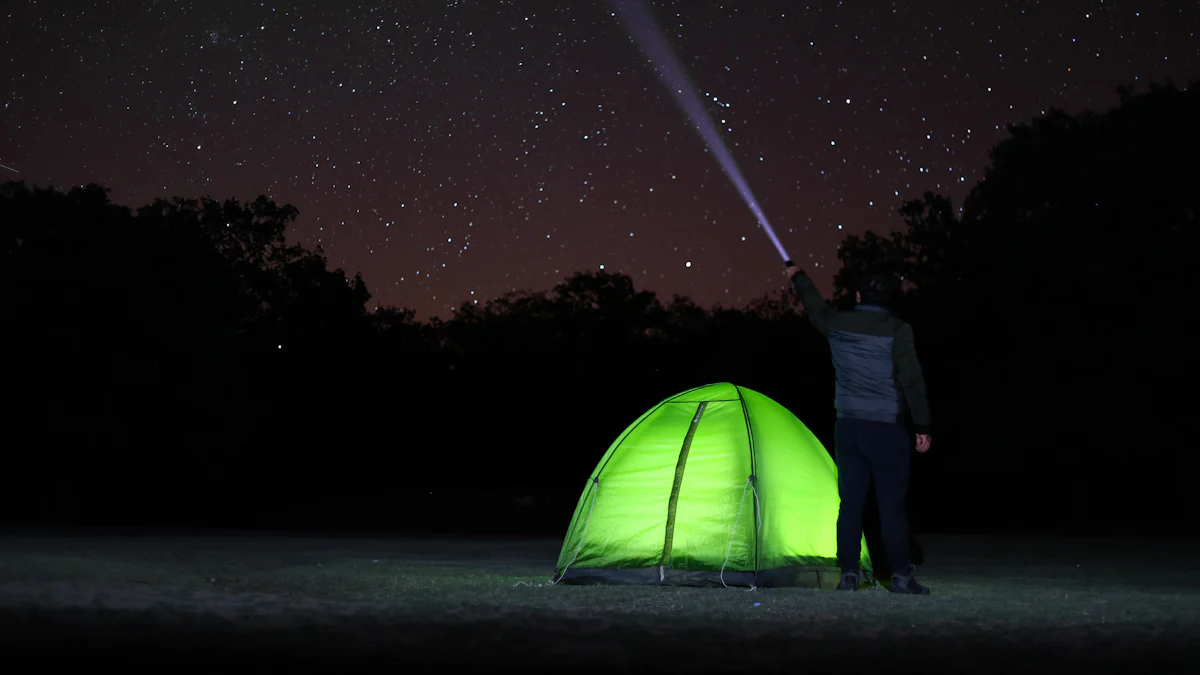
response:
M552 586L558 540L6 536L0 641L42 665L1200 671L1195 543L923 544L929 597Z

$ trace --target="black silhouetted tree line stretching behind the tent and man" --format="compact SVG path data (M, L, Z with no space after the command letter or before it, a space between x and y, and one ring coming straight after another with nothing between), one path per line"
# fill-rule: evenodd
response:
M1009 127L960 207L850 235L834 301L902 276L935 449L925 528L1187 526L1200 94ZM557 532L648 407L732 381L832 449L828 346L787 289L701 307L580 273L448 321L372 306L258 197L131 209L0 185L6 522Z

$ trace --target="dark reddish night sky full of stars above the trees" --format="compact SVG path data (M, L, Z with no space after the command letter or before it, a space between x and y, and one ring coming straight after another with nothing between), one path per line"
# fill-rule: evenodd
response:
M1200 77L1195 1L649 6L827 295L846 234L959 202L1004 125ZM11 0L0 22L0 180L264 193L419 318L601 268L703 306L781 287L610 0Z

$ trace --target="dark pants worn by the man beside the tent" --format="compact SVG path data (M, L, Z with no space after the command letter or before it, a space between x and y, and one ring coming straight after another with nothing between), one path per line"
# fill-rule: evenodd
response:
M893 573L905 574L908 561L908 459L912 443L904 424L838 419L834 453L838 458L838 562L857 569L863 540L863 508L875 482L883 548Z

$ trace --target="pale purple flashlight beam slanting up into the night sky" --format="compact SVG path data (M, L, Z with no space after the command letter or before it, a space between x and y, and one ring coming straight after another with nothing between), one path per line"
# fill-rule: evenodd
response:
M758 205L758 201L755 199L754 192L750 191L750 186L746 185L745 178L742 177L742 172L738 169L737 162L733 160L733 155L730 154L728 148L725 147L725 142L721 139L721 132L713 124L713 119L708 115L704 109L704 103L700 100L696 94L695 88L691 85L691 80L688 78L688 72L684 70L683 64L676 58L674 52L671 50L671 46L667 44L666 40L662 37L662 32L658 29L658 24L654 22L654 17L646 8L646 5L641 0L612 0L612 4L617 8L617 13L620 14L625 28L629 30L634 40L642 47L646 55L649 56L650 61L654 64L659 77L662 79L662 84L667 86L671 95L674 96L676 102L683 109L683 113L696 125L696 131L700 133L701 139L708 145L708 149L713 151L716 156L716 161L721 165L725 171L725 175L730 178L733 186L737 187L738 193L742 195L742 201L750 207L750 211L754 213L755 217L758 220L758 225L762 226L763 231L767 232L767 237L770 238L770 243L775 245L775 250L779 251L779 257L784 261L791 261L787 252L784 251L784 245L779 243L779 238L775 237L775 231L772 229L770 222L767 220L767 214L762 211Z

